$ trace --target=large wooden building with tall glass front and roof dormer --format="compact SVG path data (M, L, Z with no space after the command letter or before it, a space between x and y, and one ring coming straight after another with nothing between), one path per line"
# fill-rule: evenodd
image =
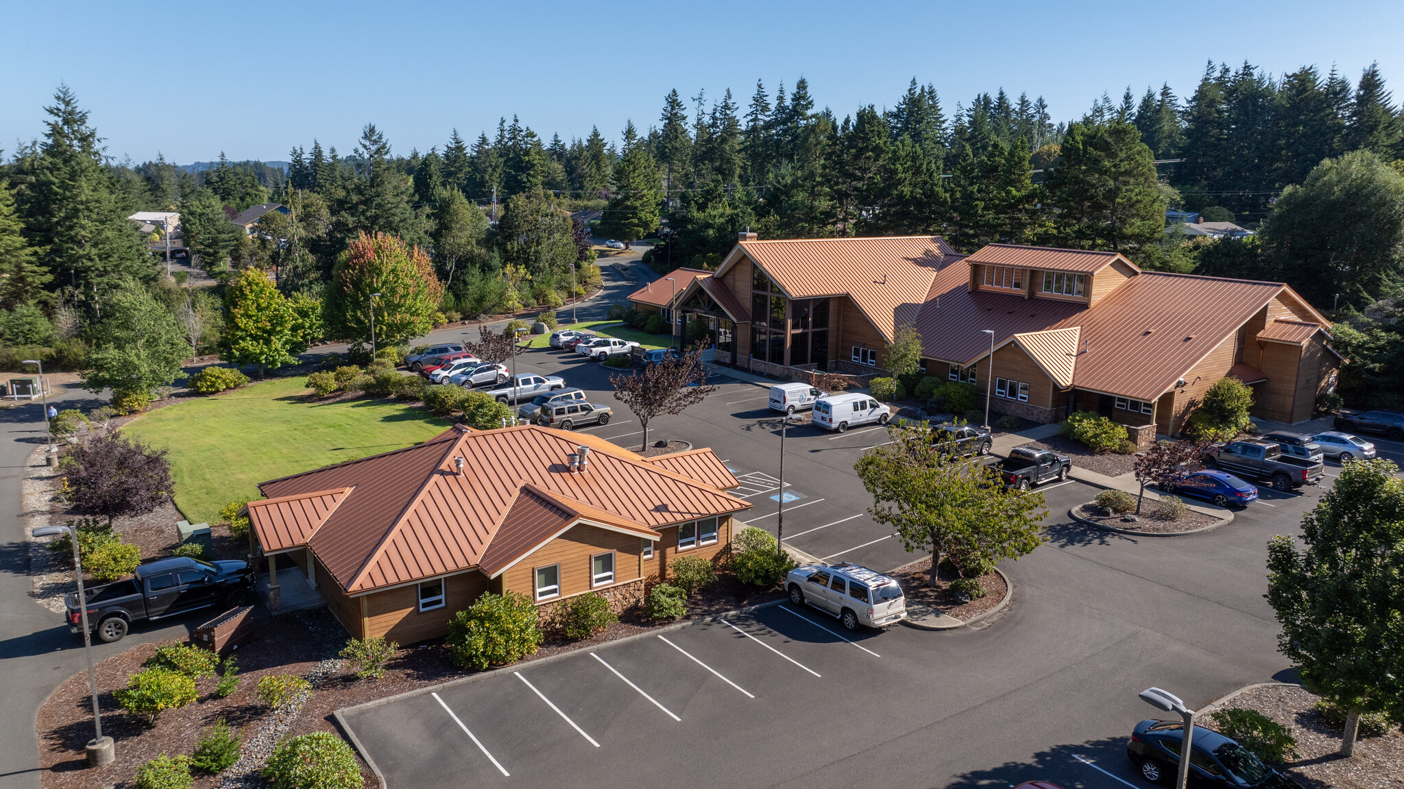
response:
M1307 420L1339 365L1330 321L1287 285L1141 271L1111 251L960 256L939 236L743 233L717 271L670 277L630 302L705 321L723 364L796 379L885 372L897 327L911 324L927 373L993 392L995 413L1099 411L1141 444L1178 434L1224 376L1254 387L1255 416Z

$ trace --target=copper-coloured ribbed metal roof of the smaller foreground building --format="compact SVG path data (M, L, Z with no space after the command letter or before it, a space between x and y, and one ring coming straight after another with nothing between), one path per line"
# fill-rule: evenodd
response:
M578 445L595 451L584 473L570 473ZM463 476L455 458L465 459ZM445 431L258 487L270 497L354 489L307 545L343 588L359 592L477 564L528 484L585 519L646 531L751 507L607 442L536 425Z

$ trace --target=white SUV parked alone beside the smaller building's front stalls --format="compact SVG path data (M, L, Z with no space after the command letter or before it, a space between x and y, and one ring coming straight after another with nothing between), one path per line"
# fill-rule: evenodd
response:
M862 564L809 564L785 577L795 605L810 604L838 616L845 630L883 628L907 618L907 598L897 581Z

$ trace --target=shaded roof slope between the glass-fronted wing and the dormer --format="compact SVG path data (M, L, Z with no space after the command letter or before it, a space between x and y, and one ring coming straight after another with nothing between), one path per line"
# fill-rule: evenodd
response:
M917 317L921 355L967 365L990 352L990 337L1002 345L1014 334L1040 331L1087 312L1081 302L1025 299L990 291L970 292L970 270L946 264L931 284Z

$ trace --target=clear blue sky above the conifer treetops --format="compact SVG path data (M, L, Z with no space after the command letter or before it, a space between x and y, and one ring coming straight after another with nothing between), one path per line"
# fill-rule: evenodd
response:
M198 7L197 7L198 6ZM626 118L663 95L806 76L842 118L892 105L915 76L958 101L1042 94L1056 119L1129 84L1193 90L1206 60L1280 74L1379 60L1404 98L1404 3L13 3L0 1L0 147L42 133L66 81L108 153L190 163L286 159L320 138L350 152L366 121L397 153L515 112L545 139Z

